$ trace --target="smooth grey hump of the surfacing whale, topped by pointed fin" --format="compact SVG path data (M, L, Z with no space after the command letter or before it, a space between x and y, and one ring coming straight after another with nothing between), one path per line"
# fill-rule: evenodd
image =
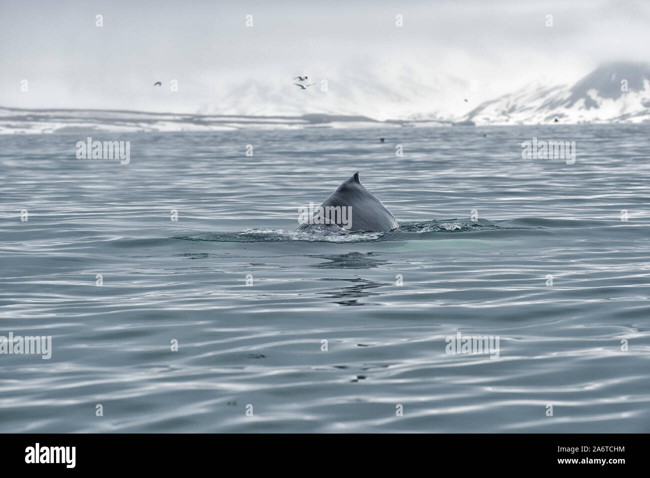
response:
M326 207L348 207L352 209L352 227L350 231L370 231L373 233L383 233L393 231L399 227L395 217L382 204L382 201L367 190L361 181L359 181L359 172L354 173L350 179L343 181L341 186L323 201L321 208ZM320 215L315 212L312 218ZM344 227L343 221L339 217L334 218L337 226ZM307 223L301 224L297 229L304 229ZM296 229L296 230L297 230Z

